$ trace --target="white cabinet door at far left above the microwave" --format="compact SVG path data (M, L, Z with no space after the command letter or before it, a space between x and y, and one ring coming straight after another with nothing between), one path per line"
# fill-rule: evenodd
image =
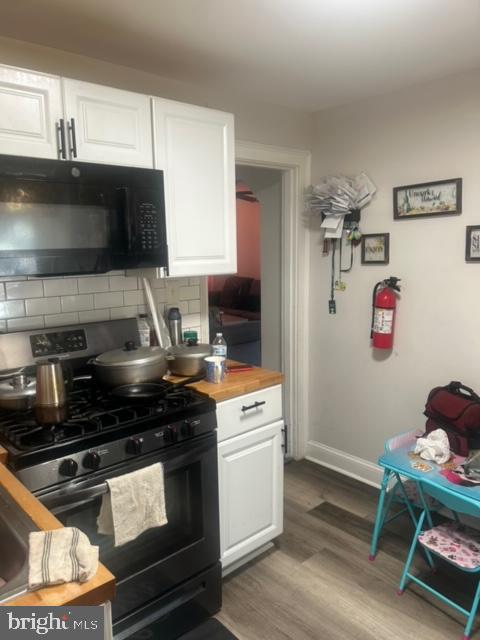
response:
M59 157L60 78L0 67L0 153Z

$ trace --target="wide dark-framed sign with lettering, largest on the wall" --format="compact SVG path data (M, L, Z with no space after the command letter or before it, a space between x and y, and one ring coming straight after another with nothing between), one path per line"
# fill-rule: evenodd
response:
M462 213L462 178L395 187L393 217L421 218Z

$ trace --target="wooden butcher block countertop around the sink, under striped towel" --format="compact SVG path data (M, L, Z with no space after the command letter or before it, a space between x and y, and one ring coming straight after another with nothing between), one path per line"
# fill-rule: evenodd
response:
M3 451L5 450L0 447L0 460ZM49 531L63 526L3 464L0 464L0 485L8 491L39 529ZM96 605L113 600L114 596L115 578L106 567L99 563L97 573L88 582L82 584L69 582L68 584L44 587L37 591L27 591L1 604L7 607L16 605L29 607L67 604Z

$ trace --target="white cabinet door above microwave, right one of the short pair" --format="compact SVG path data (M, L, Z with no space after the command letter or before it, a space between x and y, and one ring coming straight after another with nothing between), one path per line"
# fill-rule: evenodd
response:
M69 79L63 91L72 159L76 145L83 162L153 167L149 96Z

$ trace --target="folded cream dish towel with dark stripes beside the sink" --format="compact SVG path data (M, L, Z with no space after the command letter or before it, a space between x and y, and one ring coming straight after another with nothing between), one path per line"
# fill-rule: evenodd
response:
M76 527L29 534L28 588L86 582L98 568L98 547Z

